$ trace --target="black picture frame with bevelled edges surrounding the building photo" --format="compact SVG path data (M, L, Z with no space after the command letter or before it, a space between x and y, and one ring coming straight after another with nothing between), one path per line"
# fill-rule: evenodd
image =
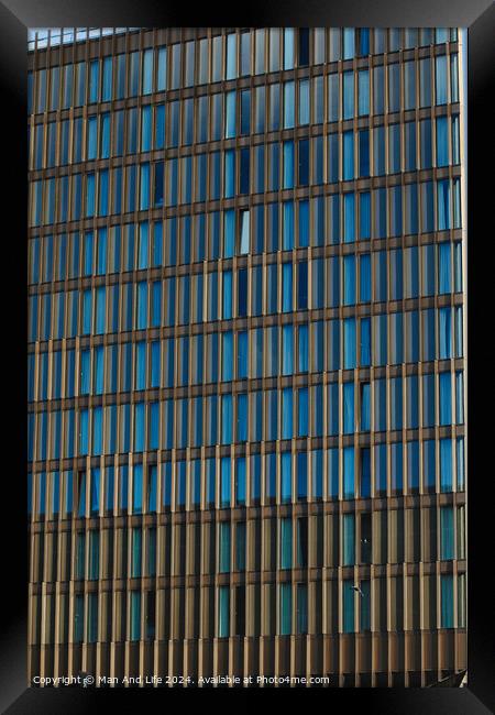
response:
M491 0L290 0L251 2L243 8L219 11L209 6L195 9L186 3L156 3L141 0L97 2L87 0L3 0L0 2L0 84L2 87L3 130L3 324L6 340L3 370L6 392L3 417L7 463L3 464L2 492L2 607L0 640L0 707L19 713L82 713L91 707L113 707L114 697L125 695L123 711L136 712L146 705L162 707L158 691L114 691L96 689L26 688L28 623L28 529L25 517L25 326L26 326L26 65L28 28L38 26L463 26L468 28L468 688L349 690L333 689L327 706L351 704L366 712L386 713L488 713L495 710L495 638L493 636L492 539L493 490L490 446L492 421L484 414L490 405L491 306L493 301L492 262L493 182L490 177L490 150L493 147L493 80L495 7ZM493 94L493 91L492 91ZM492 121L491 121L492 120ZM490 194L488 194L490 191ZM492 295L491 295L492 294ZM492 301L491 301L492 298ZM492 438L492 439L491 439ZM202 697L219 691L175 690L174 705L193 693ZM230 689L243 697L266 691ZM304 692L311 697L317 690ZM329 691L326 691L327 693ZM153 694L152 694L153 693ZM279 693L279 691L278 691ZM293 691L290 691L293 694ZM273 694L273 693L272 693ZM299 693L300 694L300 693ZM321 694L321 692L320 692ZM170 704L167 690L166 703ZM177 701L177 697L180 697ZM328 695L330 697L330 695ZM103 698L103 701L102 701ZM105 700L107 698L107 700ZM139 700L138 700L139 698ZM337 702L333 700L337 698ZM344 700L342 700L344 698ZM358 700L356 700L358 698ZM363 700L365 698L365 700ZM350 703L351 701L351 703ZM161 701L163 703L163 701Z

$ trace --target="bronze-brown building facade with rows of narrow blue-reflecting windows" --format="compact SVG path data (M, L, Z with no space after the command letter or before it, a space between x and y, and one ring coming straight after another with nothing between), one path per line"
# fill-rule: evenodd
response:
M466 668L464 63L457 29L31 43L30 678Z

